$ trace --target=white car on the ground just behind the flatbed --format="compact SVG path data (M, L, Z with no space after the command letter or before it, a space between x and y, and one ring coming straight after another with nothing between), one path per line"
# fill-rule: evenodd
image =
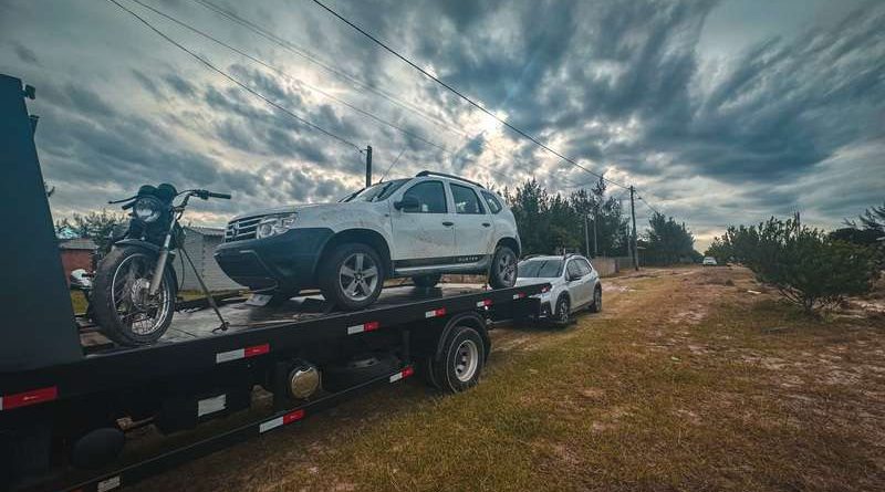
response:
M602 311L600 274L580 254L531 257L519 263L517 285L549 282L550 291L539 294L541 313L559 322L568 322L579 310Z

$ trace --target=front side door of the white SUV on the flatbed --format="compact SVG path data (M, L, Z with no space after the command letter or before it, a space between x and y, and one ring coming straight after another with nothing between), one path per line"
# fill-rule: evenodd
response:
M418 207L396 210L391 207L394 268L428 266L448 262L455 255L455 220L449 211L446 187L438 179L403 187L391 200L415 197Z

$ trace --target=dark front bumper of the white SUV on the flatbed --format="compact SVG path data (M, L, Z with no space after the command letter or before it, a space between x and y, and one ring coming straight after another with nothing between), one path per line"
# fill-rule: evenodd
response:
M226 242L216 249L215 260L235 282L252 291L314 287L316 263L332 235L332 229L303 228Z

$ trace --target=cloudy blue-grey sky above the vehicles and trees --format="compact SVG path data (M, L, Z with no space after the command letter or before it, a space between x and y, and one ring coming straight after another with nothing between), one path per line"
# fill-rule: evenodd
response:
M0 73L37 87L55 217L159 181L233 193L191 207L195 223L333 200L361 187L366 144L376 178L399 156L388 177L534 177L562 192L594 179L311 1L118 1L285 112L108 1L0 0ZM730 223L800 210L833 228L885 200L885 2L329 4L502 119L634 184L701 250Z

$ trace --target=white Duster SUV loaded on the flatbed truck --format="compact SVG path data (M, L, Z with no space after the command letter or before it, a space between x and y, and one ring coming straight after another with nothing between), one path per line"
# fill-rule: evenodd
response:
M513 213L481 185L439 172L379 182L337 203L236 217L215 258L236 282L284 301L320 287L345 310L372 304L385 279L431 287L442 273L482 273L513 286Z

